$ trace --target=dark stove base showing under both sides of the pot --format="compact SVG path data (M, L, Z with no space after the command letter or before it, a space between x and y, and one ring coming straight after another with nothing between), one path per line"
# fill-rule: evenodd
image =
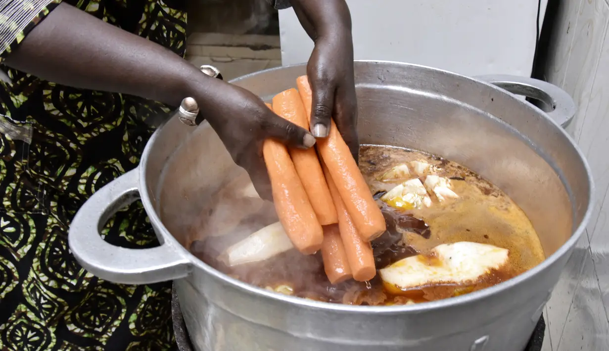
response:
M182 317L182 313L180 311L180 302L178 302L178 296L175 293L175 288L171 294L171 317L174 322L175 343L177 344L175 350L194 351L194 347L192 347L190 338L188 337L188 330L186 330L184 318ZM535 326L535 330L533 330L533 334L529 339L529 344L527 344L524 351L541 351L541 345L543 344L543 336L545 332L546 321L544 321L542 315L539 322L537 322L537 326Z

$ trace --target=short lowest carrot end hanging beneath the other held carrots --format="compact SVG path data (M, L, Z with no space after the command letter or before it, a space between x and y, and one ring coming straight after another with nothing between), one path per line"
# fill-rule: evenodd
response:
M331 283L344 282L353 277L337 224L323 227L322 259L323 269Z

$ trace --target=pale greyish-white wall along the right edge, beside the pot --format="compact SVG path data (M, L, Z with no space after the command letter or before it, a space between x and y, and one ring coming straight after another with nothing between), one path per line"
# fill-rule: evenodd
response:
M562 0L557 21L546 79L565 89L579 106L568 130L590 162L597 202L586 235L547 304L550 324L546 338L551 339L554 351L606 351L609 350L609 5L605 0Z

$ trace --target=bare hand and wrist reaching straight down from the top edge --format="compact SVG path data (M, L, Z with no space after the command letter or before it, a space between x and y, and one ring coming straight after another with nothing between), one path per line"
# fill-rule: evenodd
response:
M307 75L312 89L311 131L326 137L334 118L357 161L357 101L353 77L351 15L345 0L292 0L294 11L315 41Z

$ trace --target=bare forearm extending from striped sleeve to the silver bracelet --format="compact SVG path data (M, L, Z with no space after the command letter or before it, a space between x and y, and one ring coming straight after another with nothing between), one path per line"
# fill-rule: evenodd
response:
M205 75L170 50L60 4L4 64L62 85L179 105Z

